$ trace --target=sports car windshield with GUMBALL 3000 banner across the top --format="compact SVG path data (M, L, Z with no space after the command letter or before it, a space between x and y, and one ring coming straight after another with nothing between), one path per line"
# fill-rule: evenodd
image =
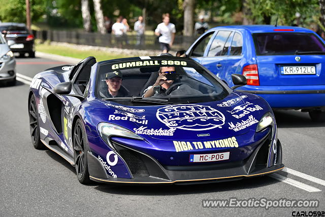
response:
M139 59L100 65L97 97L135 105L209 102L229 95L231 90L214 75L195 61L183 59Z

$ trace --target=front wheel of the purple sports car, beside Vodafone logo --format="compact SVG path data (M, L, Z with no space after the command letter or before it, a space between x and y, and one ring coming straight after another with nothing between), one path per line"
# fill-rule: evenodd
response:
M89 146L86 132L82 121L78 119L73 130L73 153L77 178L82 184L91 183L87 164L88 150Z

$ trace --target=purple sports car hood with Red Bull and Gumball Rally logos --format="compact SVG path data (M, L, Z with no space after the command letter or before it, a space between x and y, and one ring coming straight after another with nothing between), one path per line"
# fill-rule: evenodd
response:
M259 119L270 111L265 100L235 91L221 101L196 104L130 107L102 102L108 108L105 122L127 128L144 138L161 140L202 140L241 135L249 130L255 131Z

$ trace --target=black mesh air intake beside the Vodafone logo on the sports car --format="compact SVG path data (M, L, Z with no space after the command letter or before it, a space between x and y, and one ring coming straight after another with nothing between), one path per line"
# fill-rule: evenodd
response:
M122 149L119 153L133 175L149 176L146 165L139 158L136 151Z

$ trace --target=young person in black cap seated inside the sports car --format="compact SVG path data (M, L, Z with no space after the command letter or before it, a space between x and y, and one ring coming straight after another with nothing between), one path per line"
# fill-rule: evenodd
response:
M108 86L108 91L105 92L107 98L128 96L128 91L123 86L121 86L122 73L120 71L113 71L107 73L106 84Z

